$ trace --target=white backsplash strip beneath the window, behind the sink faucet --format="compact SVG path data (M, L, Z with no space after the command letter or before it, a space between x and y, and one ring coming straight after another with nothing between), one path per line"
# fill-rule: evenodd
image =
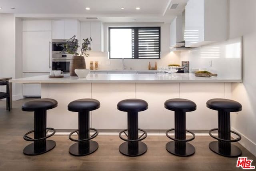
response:
M89 52L90 56L85 58L86 68L90 68L90 61L98 61L98 70L122 69L122 59L108 59L108 52ZM161 59L125 59L127 70L148 70L148 62L151 67L167 66L168 64L180 64L180 52L161 52Z

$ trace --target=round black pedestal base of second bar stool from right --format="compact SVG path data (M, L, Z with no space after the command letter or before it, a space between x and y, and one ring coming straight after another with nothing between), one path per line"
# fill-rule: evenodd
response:
M195 147L190 143L186 143L186 149L180 149L180 150L175 149L174 141L170 141L166 144L166 150L173 155L178 155L183 157L190 156L195 153Z

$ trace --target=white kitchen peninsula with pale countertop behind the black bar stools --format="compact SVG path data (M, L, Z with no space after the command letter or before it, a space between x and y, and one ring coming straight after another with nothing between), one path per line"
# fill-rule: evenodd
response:
M217 127L216 112L206 107L211 98L231 98L231 83L236 78L195 77L193 74L89 74L86 78L48 78L48 75L19 78L13 83L40 83L41 97L53 98L58 107L48 110L47 126L58 131L78 127L77 115L67 110L70 101L94 98L100 108L91 113L91 127L97 129L124 129L126 113L118 111L116 104L122 99L138 98L148 102L148 109L139 115L144 129L161 130L174 127L173 113L164 108L164 101L185 98L194 101L196 111L186 115L187 129Z

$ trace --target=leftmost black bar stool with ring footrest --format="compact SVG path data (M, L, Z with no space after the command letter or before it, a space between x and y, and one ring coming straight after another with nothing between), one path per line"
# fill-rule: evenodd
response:
M34 141L34 143L24 148L24 154L39 155L50 151L56 146L55 141L46 140L56 132L55 129L46 127L46 110L57 107L57 105L58 102L54 99L36 99L22 105L23 111L34 111L34 130L29 131L23 136L26 141ZM49 130L52 130L53 133L46 136ZM28 137L28 134L32 132L34 132L34 139Z

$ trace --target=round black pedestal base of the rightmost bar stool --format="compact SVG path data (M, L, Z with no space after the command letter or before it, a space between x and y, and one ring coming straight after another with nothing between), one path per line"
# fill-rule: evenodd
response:
M242 151L236 147L236 145L230 144L230 150L228 149L220 149L219 148L219 142L218 141L212 141L209 144L209 148L219 155L225 156L225 157L237 157L242 154Z

